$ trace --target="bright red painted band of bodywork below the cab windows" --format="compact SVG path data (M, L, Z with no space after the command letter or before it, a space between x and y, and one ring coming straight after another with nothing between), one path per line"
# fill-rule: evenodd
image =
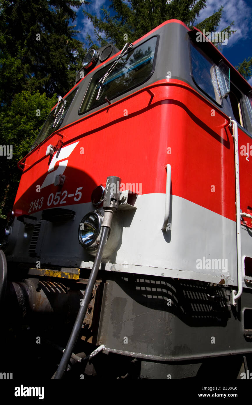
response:
M169 163L172 194L235 221L232 132L229 118L213 110L189 85L167 79L81 118L51 135L26 158L14 208L28 213L31 202L42 196L42 205L39 202L30 213L49 208L47 199L56 192L61 192L60 200L56 198L50 207L89 202L93 188L108 175L120 176L122 183L141 183L142 194L165 193L164 167ZM55 145L61 138L63 147L78 142L68 158L66 181L63 186L51 184L36 192L49 168L47 145ZM239 131L239 145L247 142L248 136ZM240 159L244 210L252 205L248 187L252 160L245 158ZM80 187L78 201L66 197L61 203L64 190L67 195L75 194Z

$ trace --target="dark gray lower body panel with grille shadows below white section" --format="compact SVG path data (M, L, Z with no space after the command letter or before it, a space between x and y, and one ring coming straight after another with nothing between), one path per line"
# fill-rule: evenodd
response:
M250 290L234 308L220 286L128 274L111 278L97 339L110 352L168 362L252 352L243 319Z

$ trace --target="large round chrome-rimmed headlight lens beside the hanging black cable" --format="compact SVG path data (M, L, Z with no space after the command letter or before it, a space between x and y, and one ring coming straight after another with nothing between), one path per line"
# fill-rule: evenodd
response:
M84 247L96 247L99 243L97 238L100 235L102 226L102 215L97 212L89 212L80 222L78 238Z

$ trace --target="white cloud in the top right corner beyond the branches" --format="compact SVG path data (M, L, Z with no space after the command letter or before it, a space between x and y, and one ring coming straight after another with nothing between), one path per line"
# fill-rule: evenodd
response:
M223 30L233 20L235 21L232 29L237 30L237 32L229 38L227 43L227 47L231 47L241 38L243 40L248 38L248 34L252 29L252 7L248 6L244 0L222 0L222 2L208 0L207 6L201 10L195 25L218 11L221 5L224 6L224 9L219 29Z

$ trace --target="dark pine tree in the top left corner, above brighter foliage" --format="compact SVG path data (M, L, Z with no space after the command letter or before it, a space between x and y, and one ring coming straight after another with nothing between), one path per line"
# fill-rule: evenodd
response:
M87 3L87 2L85 2ZM21 90L63 96L74 84L85 49L74 38L76 0L0 0L0 101Z

